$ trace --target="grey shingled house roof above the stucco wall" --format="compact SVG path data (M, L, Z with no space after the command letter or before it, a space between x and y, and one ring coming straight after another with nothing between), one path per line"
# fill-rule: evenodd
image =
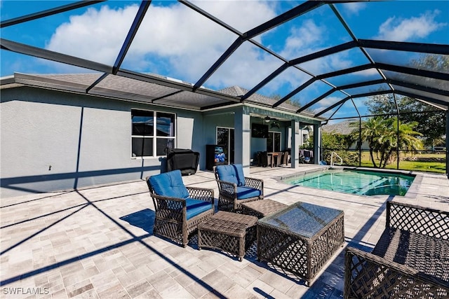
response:
M148 75L152 78L160 80L171 80L159 75ZM101 79L101 80L100 80ZM98 84L95 84L98 82ZM173 81L175 84L189 85L189 83ZM109 97L122 99L132 102L143 102L158 104L162 106L176 106L181 109L191 109L204 111L215 106L222 106L230 99L239 99L241 95L246 94L248 90L239 86L232 86L215 92L214 90L203 90L203 94L199 92L191 92L189 90L179 90L171 86L161 85L157 83L149 83L133 78L125 78L107 74L20 74L15 73L1 79L3 87L20 87L24 85L36 88L48 88L53 90L62 90L67 92L79 92L81 94L95 95L100 97ZM265 97L264 95L254 94L248 98L247 103L253 103L262 107L270 107L276 103L276 99ZM297 106L283 104L282 111L295 113ZM310 113L302 113L302 116L311 118Z

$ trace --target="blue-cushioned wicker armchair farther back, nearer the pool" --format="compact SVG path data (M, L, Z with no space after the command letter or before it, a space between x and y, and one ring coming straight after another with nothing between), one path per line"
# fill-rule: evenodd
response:
M218 165L215 167L215 181L218 184L218 209L241 211L241 204L263 200L264 181L243 174L241 164Z

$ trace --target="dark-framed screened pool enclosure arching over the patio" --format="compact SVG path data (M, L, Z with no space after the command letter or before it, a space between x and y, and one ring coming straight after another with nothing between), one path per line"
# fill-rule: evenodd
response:
M14 2L2 3L2 77L194 111L264 95L270 111L321 121L319 160L408 169L427 151L448 173L446 1Z

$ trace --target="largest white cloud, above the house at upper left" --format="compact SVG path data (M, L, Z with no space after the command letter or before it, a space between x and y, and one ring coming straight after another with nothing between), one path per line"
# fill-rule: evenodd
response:
M225 12L225 22L242 32L276 15L272 4L263 2L201 1L200 4L203 10L213 15ZM239 5L239 9L232 7L236 5ZM47 48L96 62L114 64L137 11L137 5L116 10L109 6L102 6L100 10L90 8L83 15L74 15L69 22L60 25ZM152 5L140 25L125 62L127 68L137 71L158 72L165 68L170 73L168 75L184 74L182 79L195 83L236 38L232 32L182 4ZM236 64L243 64L245 60L259 59L257 53L249 53L248 57L241 55L234 62L234 67ZM156 62L165 65L161 67ZM263 62L266 62L266 57L262 57L255 67L260 67ZM234 74L234 78L244 78L243 73L236 70L226 72Z

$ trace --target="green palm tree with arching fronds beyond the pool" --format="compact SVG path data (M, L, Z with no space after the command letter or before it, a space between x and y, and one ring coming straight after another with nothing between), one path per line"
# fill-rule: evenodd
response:
M376 168L385 168L394 158L396 149L418 151L422 149L422 141L416 136L413 128L417 123L401 123L396 118L369 118L361 124L360 139L367 141L370 148L370 158ZM358 140L359 132L352 132L353 138ZM399 141L398 141L399 140ZM376 153L376 158L374 154ZM379 165L376 164L379 160Z

